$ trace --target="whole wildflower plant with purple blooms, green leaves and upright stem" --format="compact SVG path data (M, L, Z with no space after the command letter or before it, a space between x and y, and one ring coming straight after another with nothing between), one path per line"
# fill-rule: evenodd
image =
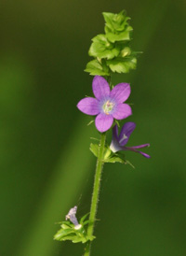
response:
M73 243L86 244L84 256L90 255L91 243L96 238L93 232L103 164L116 162L130 164L124 153L127 150L150 158L150 155L139 150L149 147L150 144L126 146L129 136L136 127L134 122L126 122L118 134L119 121L125 120L132 114L131 107L126 103L131 89L126 82L114 86L112 74L127 73L136 68L139 52L131 50L130 47L133 29L128 23L129 18L125 11L118 14L104 12L103 17L105 34L100 34L92 39L88 54L94 59L86 64L85 70L94 76L92 90L95 97L85 97L77 104L80 111L86 115L95 116L95 126L100 133L100 143L90 144L91 152L97 157L90 213L78 221L76 218L77 206L72 207L66 215L66 220L60 222L60 230L54 236L56 240L71 240ZM107 144L106 133L111 129L113 129L113 139L110 144Z

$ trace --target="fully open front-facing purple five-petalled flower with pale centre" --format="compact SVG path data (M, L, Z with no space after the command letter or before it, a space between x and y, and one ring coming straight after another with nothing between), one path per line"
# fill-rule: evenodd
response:
M111 128L113 119L123 120L132 114L131 107L123 103L130 95L128 83L119 83L111 91L107 80L96 76L92 82L92 90L96 99L86 97L77 107L86 115L97 115L95 124L100 133Z

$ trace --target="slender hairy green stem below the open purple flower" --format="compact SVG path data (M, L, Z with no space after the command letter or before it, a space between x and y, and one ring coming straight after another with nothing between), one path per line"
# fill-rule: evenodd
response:
M93 232L94 232L94 224L95 224L96 213L97 213L98 202L99 202L100 178L101 178L101 171L103 167L105 140L106 140L106 133L103 133L100 135L100 150L99 150L99 155L97 160L96 174L94 178L94 189L92 193L92 202L91 202L90 216L89 216L90 223L87 227L87 235L93 235ZM86 243L86 251L84 256L90 255L90 246L91 246L91 242L88 241Z

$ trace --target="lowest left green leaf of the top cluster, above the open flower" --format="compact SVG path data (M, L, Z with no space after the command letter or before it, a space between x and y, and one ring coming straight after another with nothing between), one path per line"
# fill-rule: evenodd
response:
M110 76L109 67L105 64L100 64L98 60L87 63L85 71L90 73L91 76Z

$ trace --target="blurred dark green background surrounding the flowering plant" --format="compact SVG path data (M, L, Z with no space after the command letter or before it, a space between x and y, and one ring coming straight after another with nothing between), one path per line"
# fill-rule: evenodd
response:
M168 0L1 1L0 255L73 256L84 246L53 241L70 207L89 211L98 137L77 102L92 95L91 38L103 11L126 9L138 68L130 82L137 128L128 146L151 143L136 166L105 164L92 256L186 255L186 4ZM124 121L123 121L124 122ZM109 135L108 140L110 140Z

